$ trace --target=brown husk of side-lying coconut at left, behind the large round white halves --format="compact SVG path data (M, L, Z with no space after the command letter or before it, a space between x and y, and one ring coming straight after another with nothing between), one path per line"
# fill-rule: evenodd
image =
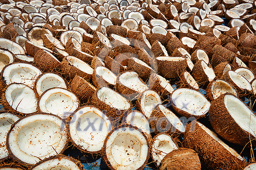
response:
M57 58L53 57L54 56L43 50L38 50L35 53L33 64L40 68L43 72L59 72L60 62L57 60Z

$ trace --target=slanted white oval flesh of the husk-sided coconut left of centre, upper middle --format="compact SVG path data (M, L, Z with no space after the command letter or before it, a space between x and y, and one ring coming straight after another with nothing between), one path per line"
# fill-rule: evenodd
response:
M66 59L69 62L69 64L78 68L79 70L81 70L87 74L93 74L93 68L91 68L87 63L80 60L79 58L74 57L74 56L66 56Z

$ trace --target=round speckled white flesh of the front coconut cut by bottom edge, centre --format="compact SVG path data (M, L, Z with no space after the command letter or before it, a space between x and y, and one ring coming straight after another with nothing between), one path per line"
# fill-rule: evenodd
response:
M115 170L137 170L147 161L149 150L147 139L140 131L122 127L110 134L105 152Z

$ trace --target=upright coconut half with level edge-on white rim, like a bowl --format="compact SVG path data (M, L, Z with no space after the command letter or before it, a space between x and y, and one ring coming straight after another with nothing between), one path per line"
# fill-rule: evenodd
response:
M183 57L157 57L157 61L159 74L165 78L179 78L187 67Z

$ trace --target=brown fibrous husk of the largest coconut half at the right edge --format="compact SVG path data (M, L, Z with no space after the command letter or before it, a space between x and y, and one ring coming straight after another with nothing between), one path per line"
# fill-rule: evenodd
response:
M255 137L244 131L229 114L224 103L225 95L233 94L226 93L219 96L211 102L209 109L209 120L215 132L225 140L237 145L246 146L249 142L256 145ZM253 111L251 113L254 114Z

